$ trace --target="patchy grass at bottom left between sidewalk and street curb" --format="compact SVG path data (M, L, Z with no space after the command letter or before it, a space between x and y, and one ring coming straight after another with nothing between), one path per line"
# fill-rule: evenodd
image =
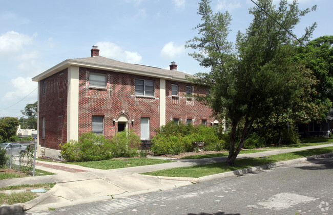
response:
M55 183L34 184L34 185L16 185L0 188L0 205L12 205L16 203L28 202L39 195L31 192L31 189L46 189L50 190Z

